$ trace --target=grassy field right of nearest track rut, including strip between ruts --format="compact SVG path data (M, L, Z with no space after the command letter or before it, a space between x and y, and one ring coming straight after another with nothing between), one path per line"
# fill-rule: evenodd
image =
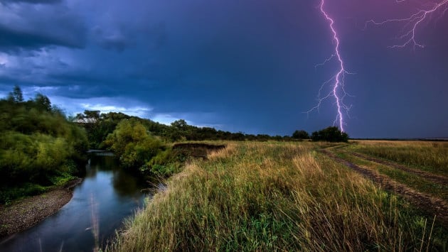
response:
M356 141L354 144L329 148L329 150L336 153L339 158L376 170L414 190L448 202L448 177L444 176L447 175L448 169L444 166L448 165L444 163L448 158L448 143ZM363 155L357 155L358 153ZM405 160L406 157L408 160ZM405 170L402 168L403 165L407 165ZM432 177L435 179L431 180Z

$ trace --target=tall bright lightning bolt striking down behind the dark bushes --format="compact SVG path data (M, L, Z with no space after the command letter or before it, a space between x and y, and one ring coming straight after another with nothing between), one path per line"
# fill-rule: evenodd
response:
M329 23L329 28L331 30L331 33L333 34L333 40L335 42L335 46L334 46L334 53L329 58L327 58L324 62L316 65L315 67L318 67L320 65L325 65L326 62L330 62L331 60L336 59L336 61L338 63L338 70L335 75L333 75L329 80L327 80L326 82L324 82L321 85L321 88L319 89L319 94L317 97L318 103L316 104L316 106L311 108L309 111L306 111L306 113L309 114L311 111L314 111L314 110L319 111L319 107L321 106L321 103L324 102L324 100L334 97L337 113L336 113L336 119L334 120L333 124L334 125L337 124L339 126L339 128L341 129L341 131L344 131L343 127L346 125L346 122L344 120L343 114L348 114L348 111L351 108L351 106L346 106L346 104L344 104L344 102L343 102L343 99L348 95L348 93L346 92L346 90L344 88L344 80L345 80L345 75L350 74L350 72L346 71L346 69L344 68L341 53L339 52L339 38L338 38L338 33L336 32L336 29L334 28L334 20L325 11L324 4L325 4L325 1L321 0L321 4L319 6L320 11L321 11L322 15L324 16L324 18L326 19L326 21ZM324 89L324 87L327 85L331 86L331 91L328 94L326 94L326 96L322 97L321 92Z

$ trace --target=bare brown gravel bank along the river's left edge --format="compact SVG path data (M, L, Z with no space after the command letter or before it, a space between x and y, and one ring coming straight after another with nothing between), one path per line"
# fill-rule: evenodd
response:
M9 206L0 205L0 239L24 231L46 219L67 204L73 196L73 187L81 178L71 180L42 195L19 199Z

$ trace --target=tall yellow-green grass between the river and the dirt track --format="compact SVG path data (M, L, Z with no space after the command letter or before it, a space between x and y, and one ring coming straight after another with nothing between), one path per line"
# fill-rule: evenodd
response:
M227 143L193 160L107 251L446 251L447 229L316 149Z

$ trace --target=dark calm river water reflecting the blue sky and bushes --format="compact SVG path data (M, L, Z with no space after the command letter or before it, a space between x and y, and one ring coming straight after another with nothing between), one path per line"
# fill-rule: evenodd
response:
M97 241L104 244L126 217L143 207L142 190L148 185L119 168L113 157L92 156L86 169L70 202L31 229L2 241L0 251L92 251L95 230Z

